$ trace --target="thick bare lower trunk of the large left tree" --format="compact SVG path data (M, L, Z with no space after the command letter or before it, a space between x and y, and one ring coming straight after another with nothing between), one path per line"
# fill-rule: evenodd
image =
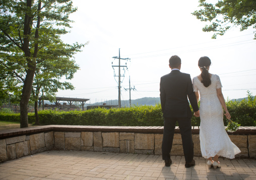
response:
M31 95L35 68L36 68L36 65L29 68L29 70L27 71L23 89L22 89L22 95L21 95L21 101L20 101L21 128L28 127L28 102Z

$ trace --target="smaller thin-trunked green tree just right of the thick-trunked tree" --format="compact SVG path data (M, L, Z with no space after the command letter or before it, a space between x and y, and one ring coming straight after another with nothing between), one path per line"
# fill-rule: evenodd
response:
M86 43L87 44L87 43ZM54 100L58 89L74 89L70 82L62 81L62 77L71 80L74 74L79 70L75 60L70 59L76 52L73 46L63 43L52 44L52 48L47 51L47 61L37 65L33 82L31 100L34 101L36 124L39 124L38 117L38 98L44 92L44 97L48 100ZM54 47L54 48L53 48ZM44 52L45 53L45 52ZM38 57L42 57L40 53ZM70 56L70 57L69 57Z

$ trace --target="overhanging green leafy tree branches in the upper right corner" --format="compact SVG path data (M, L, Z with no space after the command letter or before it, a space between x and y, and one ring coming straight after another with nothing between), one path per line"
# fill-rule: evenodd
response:
M216 32L224 35L232 27L240 27L240 31L252 26L256 29L256 1L255 0L222 0L215 5L207 3L206 0L199 1L201 10L192 13L203 22L210 22L203 28L204 32ZM254 34L256 39L256 32Z

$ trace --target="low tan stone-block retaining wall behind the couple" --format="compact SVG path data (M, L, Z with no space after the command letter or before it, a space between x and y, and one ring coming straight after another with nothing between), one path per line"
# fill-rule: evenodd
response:
M256 157L256 129L254 130L247 133L244 131L243 134L229 133L231 141L241 150L236 157ZM178 128L175 131L171 154L183 155L181 135ZM202 156L197 132L199 131L193 131L194 155ZM162 127L55 125L5 130L0 131L0 161L51 149L160 155L162 133Z

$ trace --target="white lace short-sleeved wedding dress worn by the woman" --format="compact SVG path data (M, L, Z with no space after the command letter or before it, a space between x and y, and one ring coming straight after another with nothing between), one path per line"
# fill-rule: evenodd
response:
M235 158L240 149L231 142L223 123L223 109L217 96L221 88L218 75L213 74L211 85L205 87L198 77L193 78L194 92L200 93L200 146L203 157L214 157L216 154Z

